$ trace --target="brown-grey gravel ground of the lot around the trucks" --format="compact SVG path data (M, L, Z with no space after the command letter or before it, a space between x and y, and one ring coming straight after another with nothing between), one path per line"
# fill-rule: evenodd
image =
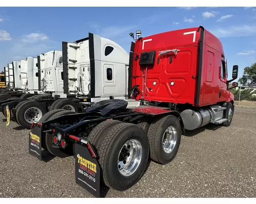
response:
M151 162L134 187L105 197L256 197L256 111L235 112L231 126L189 132L172 163ZM2 119L0 197L92 197L75 183L73 157L40 162L28 154L29 130Z

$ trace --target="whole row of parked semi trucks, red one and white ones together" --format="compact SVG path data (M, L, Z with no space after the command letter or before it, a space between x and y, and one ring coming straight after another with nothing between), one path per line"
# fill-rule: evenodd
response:
M237 84L229 83L238 66L228 80L222 43L202 26L147 37L136 32L130 54L89 33L33 59L23 62L33 72L20 78L23 85L14 82L17 90L0 94L0 100L9 95L0 101L7 123L11 115L31 129L29 154L37 159L44 160L43 149L73 156L76 183L96 197L101 186L135 185L148 159L171 162L186 131L232 121L229 90Z

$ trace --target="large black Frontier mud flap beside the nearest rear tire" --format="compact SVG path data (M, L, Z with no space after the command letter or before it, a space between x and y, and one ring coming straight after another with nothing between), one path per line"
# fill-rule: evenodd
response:
M92 157L91 145L75 143L75 177L76 184L86 189L95 197L100 197L101 168L97 158Z

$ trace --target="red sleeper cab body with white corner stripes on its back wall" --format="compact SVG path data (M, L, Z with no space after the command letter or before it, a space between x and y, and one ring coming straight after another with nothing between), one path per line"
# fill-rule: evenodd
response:
M145 100L206 105L212 94L218 94L218 90L214 88L218 74L213 75L212 72L218 69L221 61L214 64L216 56L213 57L211 52L206 52L208 46L205 42L211 46L210 51L215 50L214 55L216 50L222 50L219 40L203 28L170 31L137 40L134 58L137 55L140 58L142 53L154 50L156 55L154 65L140 66L140 59L133 60L132 86L139 85L142 92L144 82ZM173 52L159 55L163 51L175 49L178 49L177 55ZM213 63L212 66L215 67L205 70L205 53L207 63ZM221 58L221 54L219 56ZM142 93L137 99L141 99L141 96ZM216 99L219 99L219 95Z

